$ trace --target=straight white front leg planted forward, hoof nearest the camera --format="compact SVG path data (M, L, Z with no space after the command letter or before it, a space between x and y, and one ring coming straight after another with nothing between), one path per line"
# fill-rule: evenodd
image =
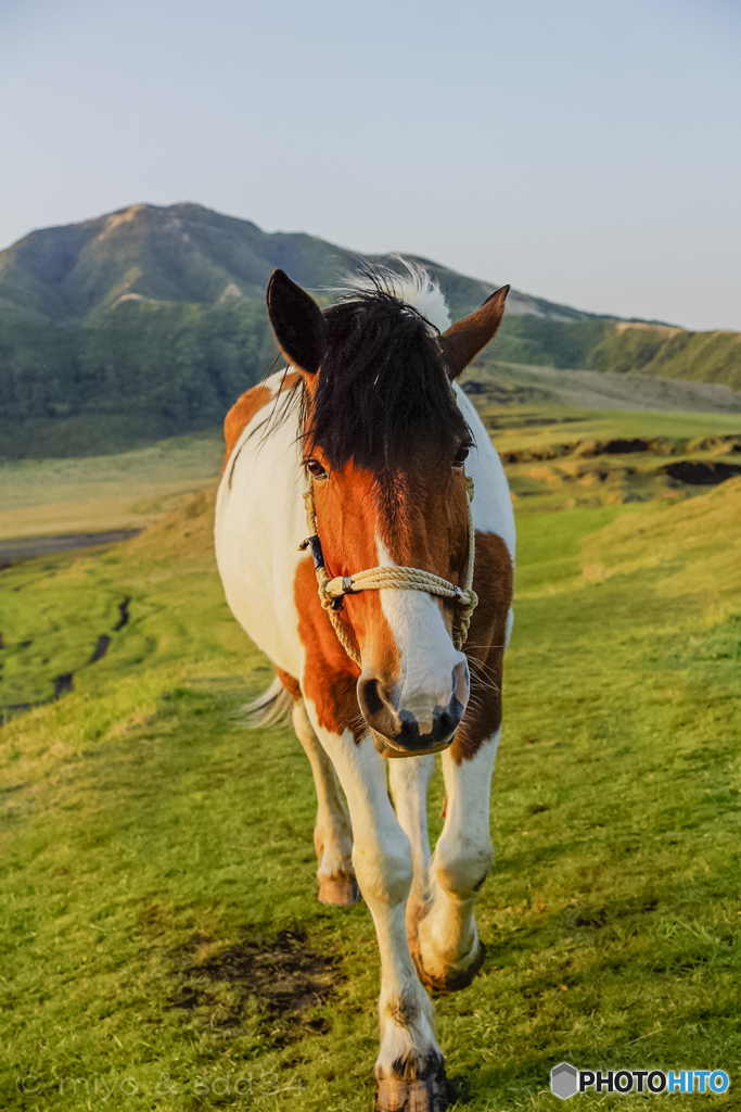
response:
M348 798L356 877L378 937L381 1045L375 1062L377 1109L442 1112L445 1074L432 1002L417 975L407 942L412 852L389 798L384 761L370 737L356 741L349 729L342 735L322 729L310 703L307 709Z

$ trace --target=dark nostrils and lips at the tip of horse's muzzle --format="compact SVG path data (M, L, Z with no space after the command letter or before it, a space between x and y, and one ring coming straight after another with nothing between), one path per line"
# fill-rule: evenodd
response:
M381 756L422 756L447 749L468 703L468 669L464 685L461 678L453 672L453 691L448 705L434 706L432 713L425 716L427 721L420 721L410 711L398 706L393 689L387 689L378 676L363 672L358 681L358 702L370 726L373 745ZM464 691L461 691L462 686Z

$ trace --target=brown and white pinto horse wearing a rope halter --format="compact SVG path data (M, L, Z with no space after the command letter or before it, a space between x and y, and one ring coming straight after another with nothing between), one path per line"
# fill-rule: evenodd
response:
M457 379L508 290L451 326L439 285L411 265L368 269L324 310L276 270L286 367L224 423L217 562L276 671L249 709L258 724L290 713L311 764L319 900L362 897L372 915L383 1112L445 1105L427 990L464 987L484 955L474 904L493 856L514 518ZM431 854L435 753L445 805Z

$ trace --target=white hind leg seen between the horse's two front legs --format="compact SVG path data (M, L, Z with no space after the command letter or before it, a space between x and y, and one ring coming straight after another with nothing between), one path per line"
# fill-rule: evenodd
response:
M434 754L389 761L389 784L399 825L412 847L414 877L407 901L407 936L417 949L417 925L427 914L430 873L430 835L427 793L434 772Z

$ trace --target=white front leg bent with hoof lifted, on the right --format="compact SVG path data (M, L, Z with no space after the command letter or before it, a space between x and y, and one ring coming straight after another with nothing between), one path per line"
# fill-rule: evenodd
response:
M481 961L473 907L491 867L489 801L500 731L470 761L442 757L448 793L445 825L430 866L430 910L419 924L419 956L431 987L468 984Z

